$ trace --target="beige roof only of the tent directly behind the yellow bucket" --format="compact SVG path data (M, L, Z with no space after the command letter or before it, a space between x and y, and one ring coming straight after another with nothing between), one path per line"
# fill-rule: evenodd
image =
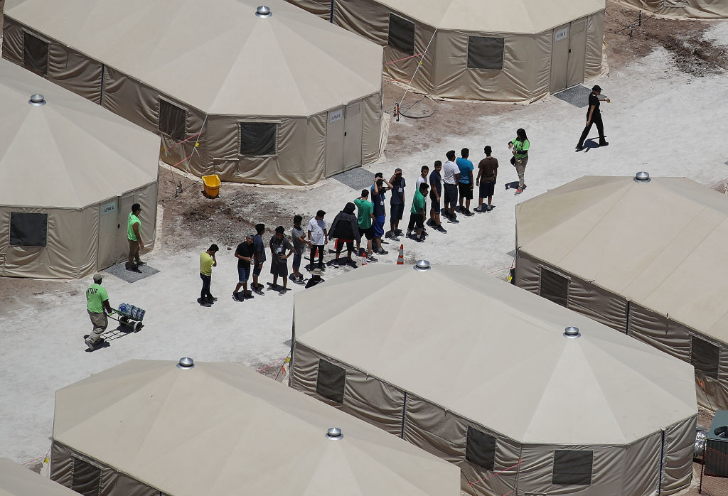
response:
M257 17L258 4L7 0L5 15L206 113L312 116L381 90L381 47L282 0Z

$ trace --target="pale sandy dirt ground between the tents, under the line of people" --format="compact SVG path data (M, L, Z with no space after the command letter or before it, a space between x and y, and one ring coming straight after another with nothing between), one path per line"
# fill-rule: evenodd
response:
M405 96L402 108L410 115L431 116L390 122L384 155L365 169L387 177L395 167L403 169L408 207L420 167L445 161L450 149L470 148L477 164L488 144L501 162L494 211L461 217L459 225L446 224L447 234L432 232L424 244L403 238L405 263L424 258L433 264L465 264L483 271L484 277L505 279L513 263L514 207L520 201L582 175L646 170L654 176L689 177L706 186L728 177L728 151L715 144L728 120L728 105L722 103L728 100L728 21L646 15L630 39L627 26L636 20L636 11L607 2L610 71L585 82L600 84L612 99L602 105L610 143L606 148L575 153L585 109L553 96L531 105ZM390 82L384 89L385 109L391 110L402 99L403 89ZM528 132L531 158L528 188L514 196L505 190L505 183L517 180L508 163L507 142L518 127ZM595 136L596 129L591 137ZM183 192L175 196L180 182ZM127 302L146 309L141 332L122 335L89 353L83 336L91 330L84 300L90 280L0 279L0 456L36 465L34 460L50 448L54 392L129 359L191 356L198 361L238 361L276 375L289 351L293 296L303 288L293 284L285 296L268 292L234 302L234 247L255 223L289 230L293 215L303 215L305 222L317 209L328 212L331 222L358 196L347 185L328 179L308 188L226 183L220 197L211 200L202 196L199 180L168 167L160 167L159 184L158 239L143 258L160 272L134 284L111 275L104 279L112 305ZM201 308L195 303L199 252L212 242L221 247L212 283L213 295L220 299L212 308ZM385 248L389 255L379 257L379 263L395 263L399 244ZM328 253L326 260L331 260ZM357 269L328 268L324 278L349 270ZM267 265L263 275L263 281L271 280ZM700 422L709 424L710 417L704 412Z

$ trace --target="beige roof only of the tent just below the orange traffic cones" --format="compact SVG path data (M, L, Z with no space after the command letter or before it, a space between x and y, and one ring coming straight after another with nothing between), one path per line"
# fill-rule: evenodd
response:
M690 364L470 267L336 279L296 295L298 342L517 441L628 444L697 412ZM423 308L432 288L457 305Z

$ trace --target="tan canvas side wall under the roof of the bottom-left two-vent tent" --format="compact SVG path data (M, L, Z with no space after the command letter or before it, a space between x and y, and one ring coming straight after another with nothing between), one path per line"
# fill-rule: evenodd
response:
M53 441L51 447L50 478L68 489L73 489L74 457L98 467L101 471L98 496L159 496L158 489L132 479L98 460L76 452L65 444Z

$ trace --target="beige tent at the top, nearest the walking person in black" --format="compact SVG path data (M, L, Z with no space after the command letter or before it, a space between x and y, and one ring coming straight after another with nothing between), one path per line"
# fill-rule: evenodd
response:
M605 0L288 1L333 6L333 23L384 46L387 76L427 95L533 101L602 70Z

